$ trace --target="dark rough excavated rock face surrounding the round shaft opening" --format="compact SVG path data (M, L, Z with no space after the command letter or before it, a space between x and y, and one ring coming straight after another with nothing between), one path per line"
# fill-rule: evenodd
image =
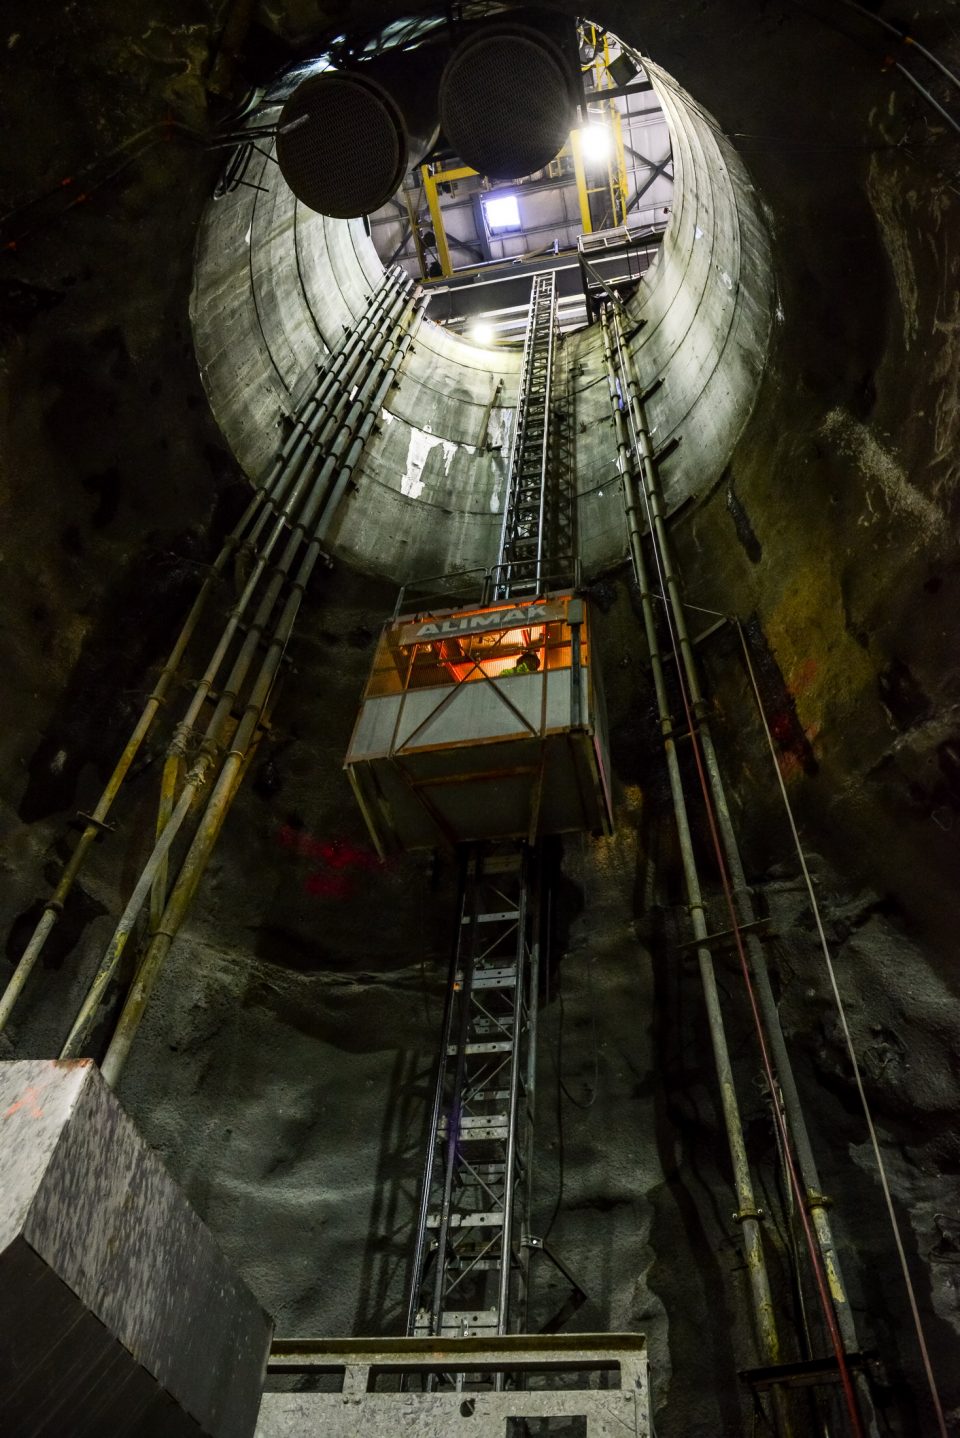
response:
M95 801L246 495L207 411L187 313L218 160L180 128L116 151L167 116L201 129L220 114L204 89L218 9L4 7L0 93L17 142L0 161L3 211L42 197L4 221L16 247L0 255L4 978L70 817ZM323 23L385 9L267 4L240 66L269 72ZM913 12L959 66L953 7ZM888 40L836 6L651 0L640 17L624 3L598 19L731 137L769 223L779 311L753 418L674 532L688 598L744 623L803 837L822 856L838 981L931 1356L959 1405L957 152L882 69ZM934 72L917 73L950 102ZM608 607L618 833L560 846L535 1228L586 1293L571 1327L648 1333L658 1432L737 1434L750 1421L734 1378L752 1360L750 1324L637 598L619 572L595 595ZM289 1334L395 1332L402 1299L456 886L443 860L374 864L339 768L391 603L389 587L345 565L308 597L273 731L121 1086ZM927 1432L739 638L719 630L701 651L846 1277L884 1366L881 1409L891 1432ZM147 851L165 736L161 723L16 1011L11 1051L49 1054L63 1038ZM724 928L716 894L711 928ZM719 972L789 1307L773 1126L737 966L724 955ZM545 1265L537 1317L568 1291Z

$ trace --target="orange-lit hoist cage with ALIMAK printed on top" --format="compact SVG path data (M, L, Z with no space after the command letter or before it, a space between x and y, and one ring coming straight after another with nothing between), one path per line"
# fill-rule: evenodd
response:
M586 601L565 591L395 615L345 768L381 854L609 833Z

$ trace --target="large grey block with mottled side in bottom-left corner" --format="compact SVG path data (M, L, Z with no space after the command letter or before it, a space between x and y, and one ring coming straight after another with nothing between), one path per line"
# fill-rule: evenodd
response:
M6 1438L249 1438L270 1334L96 1066L1 1063Z

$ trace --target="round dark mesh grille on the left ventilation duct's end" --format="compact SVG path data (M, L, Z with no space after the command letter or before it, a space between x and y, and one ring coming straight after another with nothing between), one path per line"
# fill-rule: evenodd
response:
M352 220L387 204L407 164L402 122L369 79L315 75L280 112L277 161L297 200Z

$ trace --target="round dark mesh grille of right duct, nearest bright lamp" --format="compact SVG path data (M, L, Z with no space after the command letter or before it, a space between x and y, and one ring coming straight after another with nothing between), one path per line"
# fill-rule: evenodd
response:
M549 164L571 131L572 109L560 52L517 27L464 42L440 85L440 124L450 147L496 180Z

